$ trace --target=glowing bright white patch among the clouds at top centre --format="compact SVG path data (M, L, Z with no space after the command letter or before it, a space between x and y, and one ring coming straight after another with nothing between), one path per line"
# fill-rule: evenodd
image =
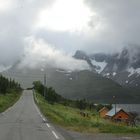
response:
M83 0L57 0L52 7L41 10L37 26L76 33L88 28L91 16L95 16L95 13Z

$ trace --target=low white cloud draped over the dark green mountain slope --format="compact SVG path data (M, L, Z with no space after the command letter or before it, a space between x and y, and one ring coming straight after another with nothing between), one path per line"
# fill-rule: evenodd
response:
M42 39L28 37L25 42L24 58L19 68L29 67L32 69L51 66L72 71L89 69L85 61L74 59Z

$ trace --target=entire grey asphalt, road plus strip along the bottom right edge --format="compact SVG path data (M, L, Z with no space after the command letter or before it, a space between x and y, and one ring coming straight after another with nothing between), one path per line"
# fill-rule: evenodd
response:
M0 114L0 140L140 140L140 135L82 134L55 126L34 103L32 91Z

